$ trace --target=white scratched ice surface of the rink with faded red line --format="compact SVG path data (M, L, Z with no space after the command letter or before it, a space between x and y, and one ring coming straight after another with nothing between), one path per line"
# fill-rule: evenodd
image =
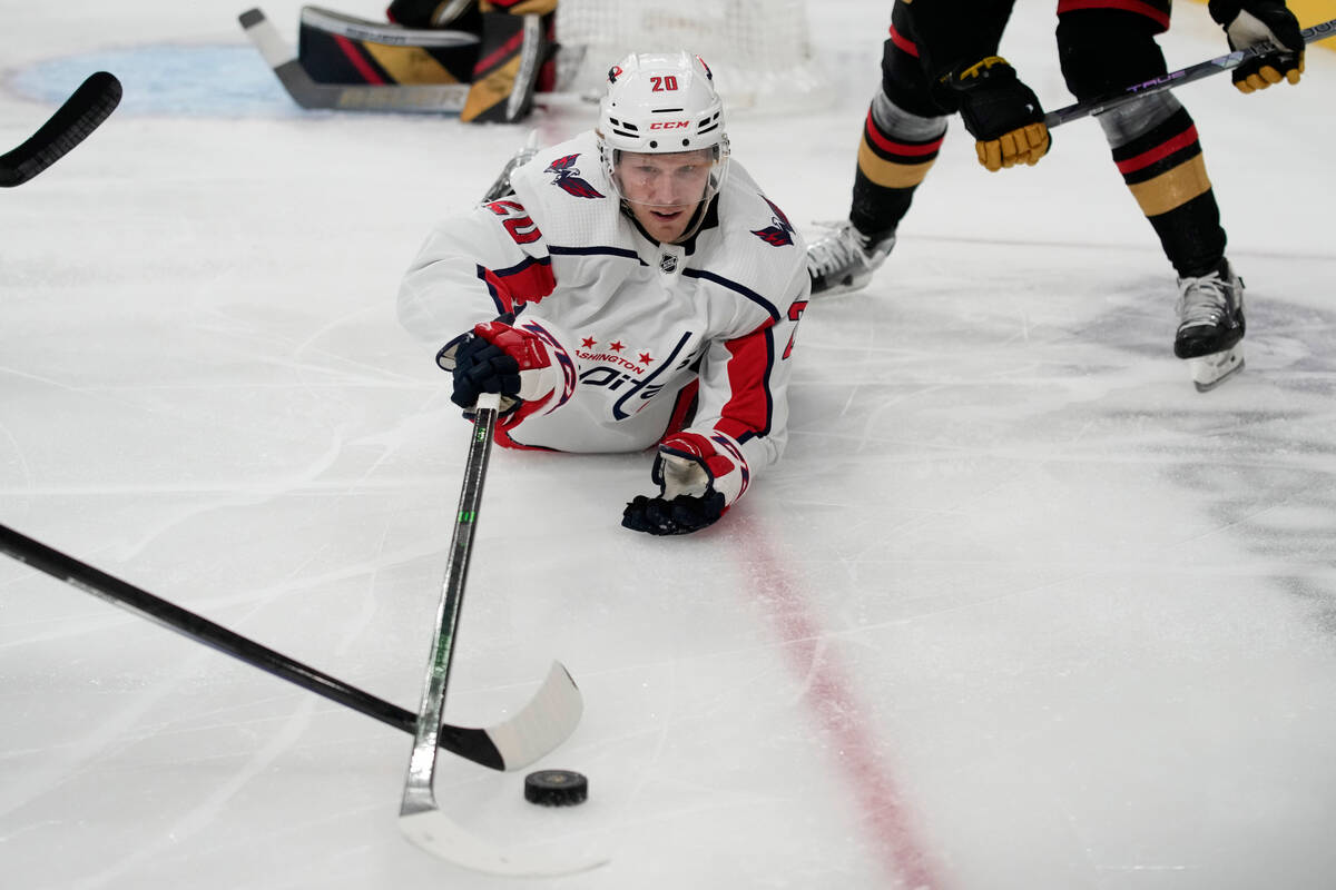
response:
M530 125L588 115L305 113L243 5L11 5L0 145L98 67L126 103L0 195L0 522L415 710L466 427L394 291ZM840 99L731 124L808 234L886 23L814 5ZM1067 104L1021 5L1003 51ZM298 8L265 7L290 39ZM1225 51L1176 19L1170 68ZM1098 127L990 175L953 124L874 284L811 304L788 455L715 530L619 527L647 455L496 452L448 715L560 658L587 714L541 766L591 799L446 757L445 810L612 855L572 890L1329 886L1333 83L1313 51L1300 88L1182 91L1249 286L1210 394ZM398 834L409 737L12 560L0 697L5 887L534 886Z

